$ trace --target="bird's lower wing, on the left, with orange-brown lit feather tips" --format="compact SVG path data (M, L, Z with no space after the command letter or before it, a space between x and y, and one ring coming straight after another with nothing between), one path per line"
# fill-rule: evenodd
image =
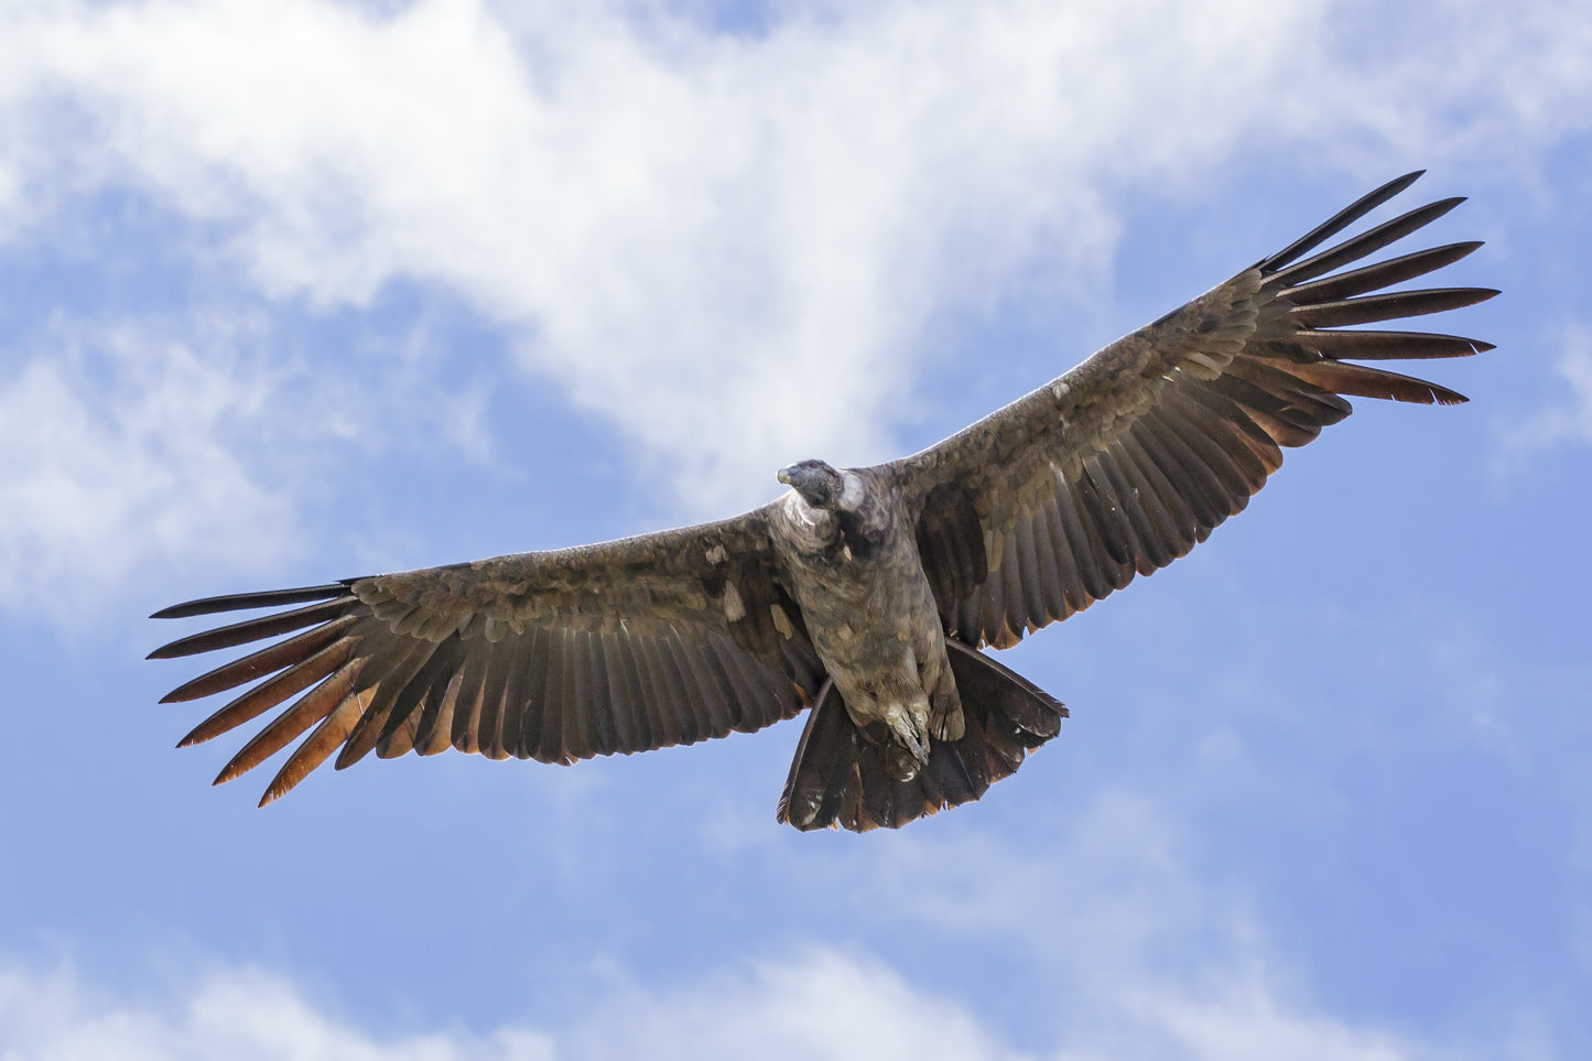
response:
M181 746L293 701L217 777L231 781L309 731L261 806L339 749L339 769L373 749L568 763L759 730L806 707L823 664L775 564L758 510L602 545L178 604L153 618L298 607L150 658L304 631L161 701L264 679Z

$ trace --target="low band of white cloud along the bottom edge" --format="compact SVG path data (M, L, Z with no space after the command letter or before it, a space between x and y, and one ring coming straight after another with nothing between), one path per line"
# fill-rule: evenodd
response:
M1043 1053L874 959L814 948L724 969L685 986L616 988L559 1029L382 1034L326 1013L291 980L212 972L164 1000L118 997L75 973L0 965L0 1056L8 1061L1098 1061L1191 1058L1396 1061L1428 1051L1329 1016L1286 1008L1247 975L1199 996L1124 991L1119 1012L1081 1015ZM622 1020L616 1020L622 1015ZM1049 1015L1035 1028L1052 1031ZM1035 1028L1024 1029L1032 1037ZM1452 1055L1450 1055L1452 1056Z

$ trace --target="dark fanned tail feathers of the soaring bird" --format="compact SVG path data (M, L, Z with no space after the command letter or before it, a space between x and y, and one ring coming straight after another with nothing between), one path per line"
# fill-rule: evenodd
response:
M966 722L960 741L933 741L928 765L912 781L895 781L885 746L856 728L834 682L825 682L796 746L778 820L801 830L899 828L977 800L1060 731L1067 707L1033 682L952 637L946 655Z

